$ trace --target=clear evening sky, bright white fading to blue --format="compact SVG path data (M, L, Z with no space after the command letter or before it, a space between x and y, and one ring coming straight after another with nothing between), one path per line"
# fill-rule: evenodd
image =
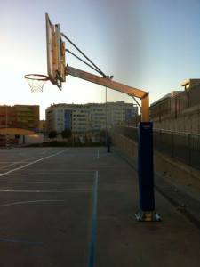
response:
M200 0L6 0L0 3L0 105L106 101L106 88L66 77L31 93L29 73L47 75L45 13L60 31L113 80L149 92L150 103L200 78ZM66 48L81 56L66 41ZM83 57L82 57L83 58ZM96 74L66 53L66 63ZM107 90L107 101L135 103Z

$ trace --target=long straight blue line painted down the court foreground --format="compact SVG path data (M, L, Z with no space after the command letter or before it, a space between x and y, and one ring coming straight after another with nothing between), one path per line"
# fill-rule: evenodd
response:
M92 237L91 237L91 249L90 249L90 262L89 267L93 267L93 254L94 254L94 239L95 239L95 227L96 227L96 214L97 214L97 189L98 189L98 171L95 173L95 185L94 185L94 202L93 202L93 218L92 218Z

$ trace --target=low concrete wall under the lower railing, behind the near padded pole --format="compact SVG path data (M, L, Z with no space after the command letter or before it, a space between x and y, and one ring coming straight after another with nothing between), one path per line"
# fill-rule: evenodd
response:
M116 147L124 150L134 158L138 158L137 142L128 139L122 134L117 134L114 131L111 133L111 137ZM200 171L195 168L185 165L175 158L168 157L163 152L157 150L154 150L154 166L160 172L172 175L175 179L200 189Z

